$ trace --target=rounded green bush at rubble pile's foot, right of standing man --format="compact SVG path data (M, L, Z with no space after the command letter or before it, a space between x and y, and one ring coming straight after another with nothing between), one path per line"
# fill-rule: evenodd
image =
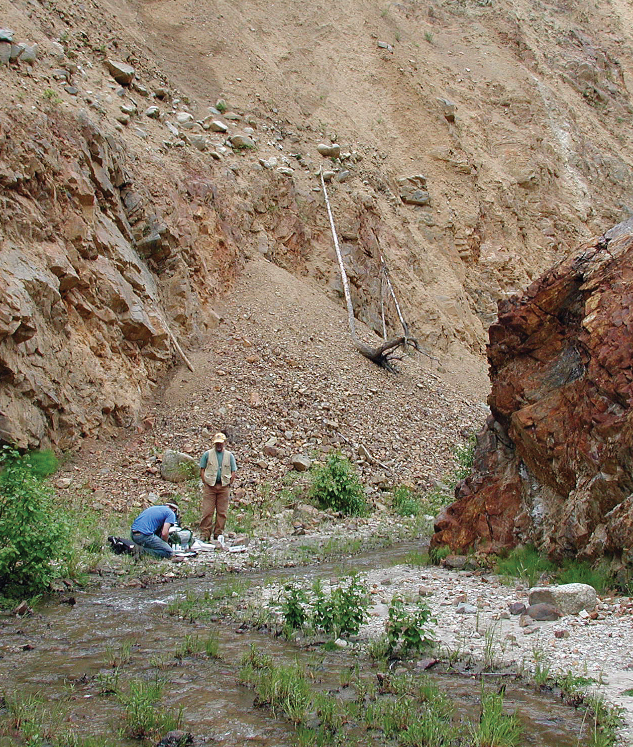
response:
M367 513L362 484L348 459L330 454L322 467L312 475L310 495L321 509L333 509L351 516Z

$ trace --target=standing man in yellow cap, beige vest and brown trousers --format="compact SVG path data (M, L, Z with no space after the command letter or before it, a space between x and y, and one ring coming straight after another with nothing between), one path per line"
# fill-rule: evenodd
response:
M203 481L203 517L200 519L200 535L205 542L223 536L226 511L229 509L229 491L235 482L235 456L224 448L226 436L216 433L213 448L200 457L200 480ZM215 523L213 515L215 513Z

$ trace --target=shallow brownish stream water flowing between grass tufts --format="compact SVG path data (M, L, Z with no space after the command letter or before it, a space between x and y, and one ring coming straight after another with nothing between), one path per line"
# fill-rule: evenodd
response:
M367 568L388 567L402 560L411 548L403 545L336 565L278 570L267 574L241 574L251 584L280 583L302 574L310 581L316 575L349 574ZM184 709L185 728L220 747L262 745L290 747L294 730L283 718L253 704L253 692L236 684L239 660L251 644L271 654L277 663L305 663L315 686L341 689L341 672L358 661L348 651L304 651L265 632L238 632L233 622L190 623L169 616L165 602L186 592L203 594L221 580L190 578L146 589L110 589L75 593L76 604L49 603L24 619L0 619L0 690L40 692L46 701L58 704L75 734L117 734L123 706L114 696L99 694L96 677L111 672L116 652L129 648L124 678L153 678L156 672L167 680L169 707ZM214 630L222 660L187 657L177 666L157 669L157 660L173 658L185 635L204 638ZM32 647L32 648L31 648ZM26 650L25 650L26 649ZM367 681L376 681L376 669L360 660ZM468 675L433 674L439 688L448 693L463 718L476 721L480 685ZM578 740L582 716L553 695L539 693L534 686L515 684L507 678L505 707L516 709L524 725L522 745L539 747L583 747ZM497 685L495 685L497 686ZM122 745L133 744L117 740ZM0 747L13 744L0 737Z

